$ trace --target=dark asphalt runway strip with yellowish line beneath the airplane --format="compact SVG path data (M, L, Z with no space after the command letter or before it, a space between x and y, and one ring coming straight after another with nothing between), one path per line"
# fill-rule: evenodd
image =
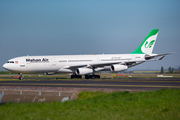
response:
M39 86L73 88L110 88L131 90L180 89L179 78L128 78L100 80L48 80L24 79L22 81L0 81L0 86Z

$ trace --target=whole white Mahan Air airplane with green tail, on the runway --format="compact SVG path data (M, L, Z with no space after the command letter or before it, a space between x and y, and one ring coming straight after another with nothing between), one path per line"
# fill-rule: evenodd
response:
M3 68L19 74L24 73L72 73L71 78L100 78L98 71L119 72L147 61L162 60L166 54L152 54L159 29L152 29L141 45L129 54L22 56L8 60ZM158 59L153 59L159 57Z

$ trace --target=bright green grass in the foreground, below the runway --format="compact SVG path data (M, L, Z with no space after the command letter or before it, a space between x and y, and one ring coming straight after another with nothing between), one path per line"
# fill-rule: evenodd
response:
M9 103L0 106L1 120L176 120L180 90L153 92L82 92L64 103Z

